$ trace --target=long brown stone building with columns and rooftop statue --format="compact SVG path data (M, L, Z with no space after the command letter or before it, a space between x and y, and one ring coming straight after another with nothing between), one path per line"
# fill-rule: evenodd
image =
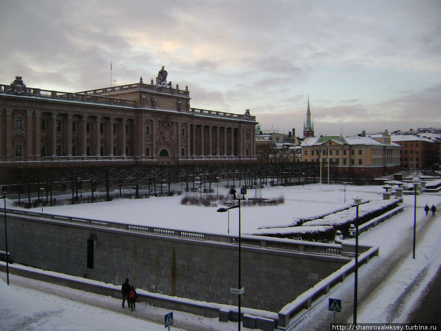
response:
M182 165L256 160L255 116L190 107L156 82L79 93L0 84L0 167Z

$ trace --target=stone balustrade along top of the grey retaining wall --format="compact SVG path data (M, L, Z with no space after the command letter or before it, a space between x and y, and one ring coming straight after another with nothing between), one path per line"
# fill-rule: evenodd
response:
M149 227L144 225L123 224L117 222L92 220L81 217L52 215L52 214L46 214L46 213L40 213L34 211L25 211L19 209L10 209L10 208L6 208L6 212L12 215L35 217L40 219L48 219L51 221L68 222L73 224L102 227L107 229L111 229L111 228L123 229L133 232L170 236L176 238L225 242L234 245L237 245L239 243L239 238L237 236L230 234L214 234L214 233L195 232L195 231L179 230L179 229ZM4 213L4 208L0 208L0 215L2 215L2 213ZM319 255L342 256L341 244L324 244L324 243L308 242L302 240L269 238L269 237L254 236L254 235L242 235L241 237L242 237L241 245L244 247L264 248L271 250L307 253L314 255L319 254Z

